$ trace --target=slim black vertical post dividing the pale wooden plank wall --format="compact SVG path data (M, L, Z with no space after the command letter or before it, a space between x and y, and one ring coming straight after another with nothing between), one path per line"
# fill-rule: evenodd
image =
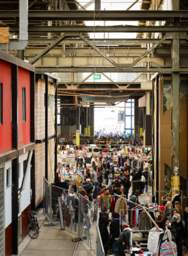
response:
M45 79L45 178L48 181L48 75Z

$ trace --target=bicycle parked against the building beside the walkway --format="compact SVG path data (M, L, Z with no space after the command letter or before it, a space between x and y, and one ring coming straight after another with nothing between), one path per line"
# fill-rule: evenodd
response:
M36 212L35 211L29 211L29 210L25 210L30 218L30 224L28 225L28 235L30 236L30 238L32 239L36 239L38 238L39 235L39 226L38 226L38 219L36 216Z

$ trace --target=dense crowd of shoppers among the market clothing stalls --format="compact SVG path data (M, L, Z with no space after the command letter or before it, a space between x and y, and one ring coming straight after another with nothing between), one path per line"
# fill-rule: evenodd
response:
M110 155L107 158L101 157L99 161L97 161L94 155L91 155L90 164L77 162L76 170L67 166L61 166L62 169L66 170L67 174L83 175L83 183L79 186L78 192L85 199L93 203L97 202L96 205L101 209L99 214L99 230L105 254L107 254L109 249L113 249L115 241L120 256L125 255L125 250L130 247L130 236L132 236L135 228L132 222L131 210L135 207L135 203L140 205L140 195L148 194L152 164L151 154L151 152L148 155L140 154L142 161L137 156L132 157L131 161L124 162L124 166L118 168L118 170L117 166L113 164ZM120 199L119 196L128 199L126 203L122 200L126 204L124 214L122 214L123 218L120 218L122 201L119 206L115 206L113 212L111 211L111 197L113 197L114 203L117 203L118 199ZM150 210L148 212L160 230L165 230L167 227L171 231L173 241L177 245L177 256L182 256L182 245L185 238L187 238L188 231L188 208L187 211L183 211L180 205L179 193L176 192L172 201L167 200L167 197L162 197L161 201L161 206L155 208L154 211ZM148 208L148 205L145 206ZM90 228L91 223L88 218L87 207L83 209L85 211L86 223L83 228ZM158 213L156 213L156 210ZM122 226L120 227L120 222L124 222L126 214L128 214L128 226L122 228ZM139 245L133 239L131 241L132 246L139 249Z

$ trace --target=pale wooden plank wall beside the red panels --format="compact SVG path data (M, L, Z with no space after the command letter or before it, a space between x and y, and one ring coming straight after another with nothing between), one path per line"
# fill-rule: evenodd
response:
M49 82L49 90L50 94L54 95L54 84L50 84ZM45 138L45 106L44 106L44 93L45 93L45 80L38 79L36 82L36 98L35 98L35 132L36 139L44 139ZM54 104L53 104L54 106ZM53 113L53 117L52 117ZM54 135L54 107L48 107L48 137ZM54 176L54 139L50 139L48 142L50 156L48 152L48 182L50 183L51 177L51 164L52 164L52 174ZM45 176L45 143L36 144L36 206L43 199L43 185L44 185L44 176ZM51 160L51 164L50 164ZM51 183L53 179L51 179Z

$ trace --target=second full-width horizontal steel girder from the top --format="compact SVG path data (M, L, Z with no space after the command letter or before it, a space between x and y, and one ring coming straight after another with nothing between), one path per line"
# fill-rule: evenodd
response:
M48 11L50 12L50 11ZM56 11L58 12L58 11ZM87 13L87 11L85 11ZM132 12L132 11L129 11ZM150 11L148 11L150 12ZM188 11L187 11L188 12ZM0 11L1 13L1 11ZM142 11L140 11L142 13ZM2 20L2 19L1 19ZM19 27L10 26L10 28L19 32ZM108 33L135 33L135 32L187 32L187 26L29 26L28 32L80 32L80 33L89 33L89 32L108 32ZM101 39L102 42L103 39ZM138 40L138 39L135 39Z

